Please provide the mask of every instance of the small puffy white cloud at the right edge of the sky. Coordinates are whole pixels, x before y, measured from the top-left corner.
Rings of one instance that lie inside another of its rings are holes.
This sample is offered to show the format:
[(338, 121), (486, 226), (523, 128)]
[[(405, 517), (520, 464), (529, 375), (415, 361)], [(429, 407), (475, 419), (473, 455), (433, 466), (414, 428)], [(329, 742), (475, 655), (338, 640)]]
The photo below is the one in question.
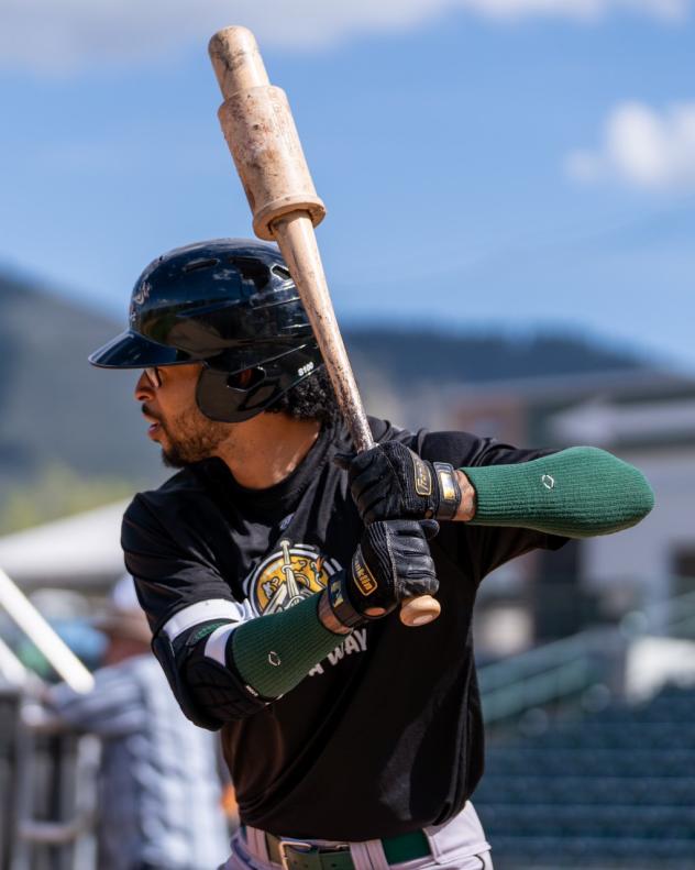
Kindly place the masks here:
[(695, 189), (695, 102), (661, 113), (640, 102), (621, 103), (608, 115), (599, 147), (570, 154), (565, 167), (585, 183)]

